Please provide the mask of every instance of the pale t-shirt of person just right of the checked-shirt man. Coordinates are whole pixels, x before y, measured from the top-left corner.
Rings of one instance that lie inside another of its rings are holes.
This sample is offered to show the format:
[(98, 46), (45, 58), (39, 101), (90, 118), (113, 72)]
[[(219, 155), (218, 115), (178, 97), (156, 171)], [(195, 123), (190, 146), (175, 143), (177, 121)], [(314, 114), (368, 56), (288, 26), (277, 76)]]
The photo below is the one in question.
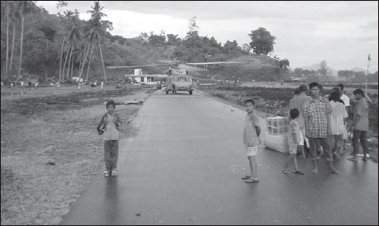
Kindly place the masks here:
[(329, 101), (332, 107), (332, 114), (330, 116), (330, 127), (333, 135), (342, 134), (345, 127), (343, 125), (343, 118), (348, 117), (348, 112), (341, 102)]

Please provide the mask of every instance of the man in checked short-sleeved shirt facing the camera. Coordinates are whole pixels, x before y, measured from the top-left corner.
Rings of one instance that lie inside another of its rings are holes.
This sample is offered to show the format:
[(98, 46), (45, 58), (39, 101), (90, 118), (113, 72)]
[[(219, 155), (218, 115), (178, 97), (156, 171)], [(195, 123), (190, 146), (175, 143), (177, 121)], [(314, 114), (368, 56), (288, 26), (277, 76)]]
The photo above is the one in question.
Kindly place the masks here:
[(330, 114), (332, 108), (329, 101), (320, 96), (322, 85), (313, 82), (309, 84), (311, 100), (303, 106), (305, 119), (305, 136), (309, 139), (310, 153), (312, 155), (313, 173), (317, 173), (317, 144), (324, 150), (329, 170), (332, 174), (341, 174), (333, 166), (333, 154), (330, 149), (328, 134), (331, 132)]

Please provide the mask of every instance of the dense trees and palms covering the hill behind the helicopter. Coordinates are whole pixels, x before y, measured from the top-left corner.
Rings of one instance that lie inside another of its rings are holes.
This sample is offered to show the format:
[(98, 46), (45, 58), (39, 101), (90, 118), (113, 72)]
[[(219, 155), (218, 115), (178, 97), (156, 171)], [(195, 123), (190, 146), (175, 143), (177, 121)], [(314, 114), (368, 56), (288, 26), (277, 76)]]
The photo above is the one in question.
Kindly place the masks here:
[[(111, 70), (105, 69), (106, 66), (141, 65), (159, 59), (202, 62), (259, 57), (251, 53), (249, 44), (240, 46), (235, 40), (221, 44), (214, 36), (199, 36), (195, 17), (189, 21), (189, 31), (184, 38), (163, 30), (161, 34), (142, 32), (140, 36), (127, 38), (111, 35), (112, 23), (104, 20), (107, 15), (98, 1), (87, 11), (91, 14), (89, 20), (80, 20), (77, 10), (64, 11), (67, 4), (70, 2), (58, 1), (57, 7), (62, 7), (63, 13), (50, 14), (34, 1), (1, 2), (1, 79), (5, 84), (31, 78), (40, 82), (67, 82), (71, 77), (113, 80), (133, 73), (133, 69)], [(279, 60), (262, 57), (259, 61), (263, 66), (253, 65), (254, 68), (270, 71), (266, 77), (262, 76), (265, 80), (277, 80)], [(229, 72), (222, 73), (228, 67), (210, 66), (209, 74), (229, 76)], [(247, 69), (234, 70), (233, 74), (246, 76)], [(158, 67), (144, 71), (161, 73)], [(255, 75), (260, 77), (261, 72), (249, 74), (247, 79), (251, 80)]]

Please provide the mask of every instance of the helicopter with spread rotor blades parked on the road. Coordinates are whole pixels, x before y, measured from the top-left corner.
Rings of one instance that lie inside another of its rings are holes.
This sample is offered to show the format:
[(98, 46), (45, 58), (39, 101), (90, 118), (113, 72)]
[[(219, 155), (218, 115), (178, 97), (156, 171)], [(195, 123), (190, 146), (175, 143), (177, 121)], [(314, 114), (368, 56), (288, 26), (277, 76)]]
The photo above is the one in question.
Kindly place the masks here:
[[(169, 66), (166, 70), (167, 75), (167, 87), (166, 94), (169, 92), (177, 93), (177, 91), (186, 91), (190, 95), (194, 92), (194, 84), (191, 76), (188, 75), (188, 71), (208, 71), (207, 66), (209, 64), (230, 64), (241, 63), (240, 61), (218, 61), (218, 62), (199, 62), (199, 63), (180, 63), (180, 61), (158, 60), (164, 62), (162, 64), (146, 64), (136, 66), (108, 66), (107, 69), (128, 69), (128, 68), (142, 68), (142, 67), (160, 67)], [(204, 68), (197, 68), (191, 65), (203, 65)], [(173, 69), (176, 67), (177, 69)], [(149, 77), (149, 76), (146, 76)]]

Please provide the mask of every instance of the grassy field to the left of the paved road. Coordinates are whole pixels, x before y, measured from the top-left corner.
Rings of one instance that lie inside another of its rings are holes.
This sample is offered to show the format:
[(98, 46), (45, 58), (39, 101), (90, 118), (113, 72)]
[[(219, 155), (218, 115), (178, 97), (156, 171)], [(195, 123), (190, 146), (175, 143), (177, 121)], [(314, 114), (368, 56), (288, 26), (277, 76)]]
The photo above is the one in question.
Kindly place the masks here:
[[(103, 167), (95, 127), (104, 101), (145, 100), (153, 87), (128, 85), (78, 90), (75, 86), (1, 90), (1, 224), (58, 224)], [(140, 105), (117, 105), (128, 122)]]

